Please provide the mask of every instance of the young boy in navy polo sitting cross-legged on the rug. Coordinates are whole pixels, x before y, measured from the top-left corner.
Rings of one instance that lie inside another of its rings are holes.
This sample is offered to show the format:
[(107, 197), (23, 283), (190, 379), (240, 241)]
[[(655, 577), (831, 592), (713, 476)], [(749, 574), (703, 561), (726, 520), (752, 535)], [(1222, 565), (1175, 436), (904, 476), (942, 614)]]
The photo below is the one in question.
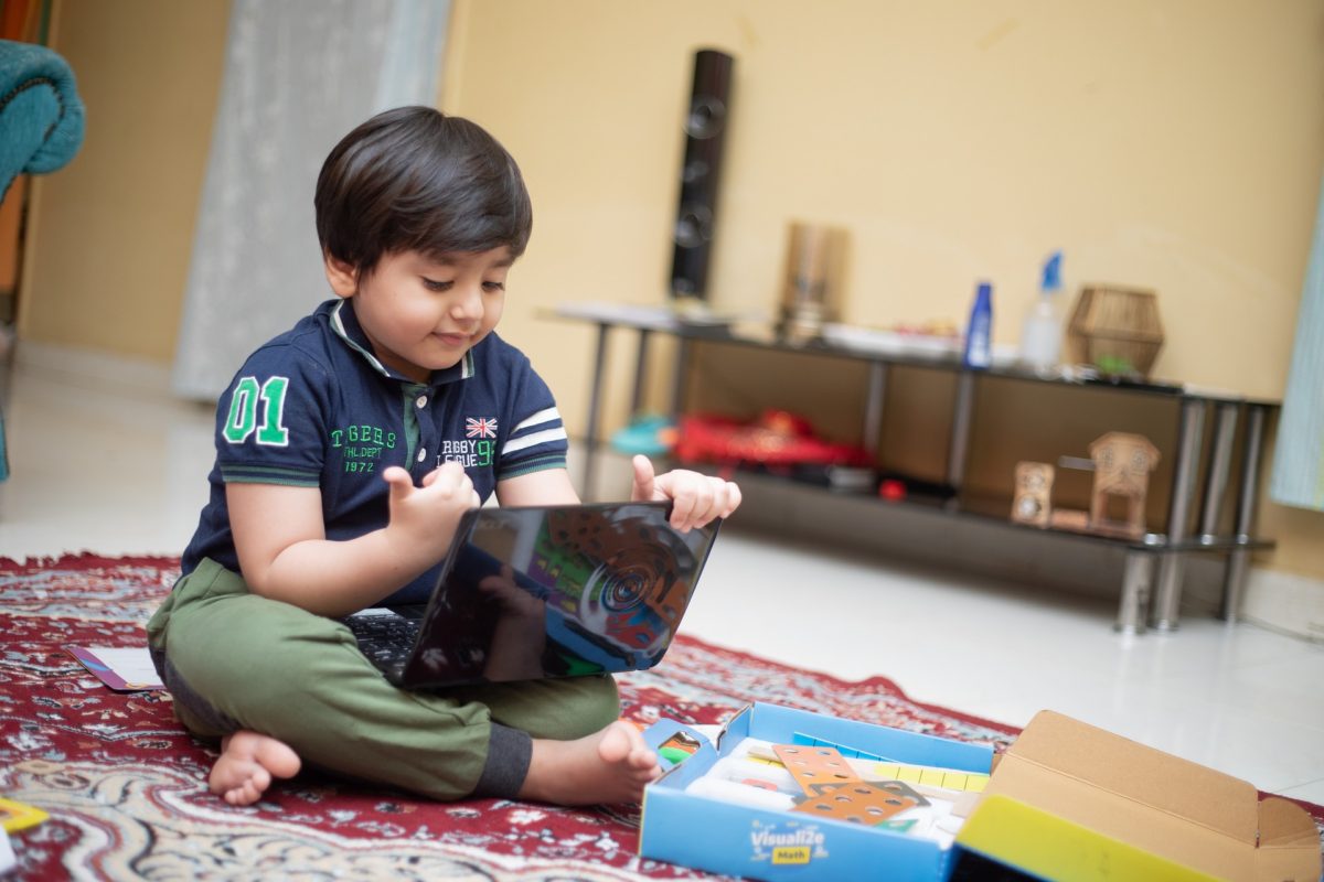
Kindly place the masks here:
[[(303, 763), (441, 800), (638, 800), (658, 775), (608, 676), (406, 692), (335, 616), (426, 598), (462, 512), (579, 502), (556, 403), (493, 331), (532, 226), (510, 155), (426, 107), (350, 132), (318, 177), (336, 295), (260, 348), (221, 397), (211, 501), (148, 623), (195, 734), (221, 739), (233, 805)], [(740, 504), (731, 483), (654, 475), (682, 530)]]

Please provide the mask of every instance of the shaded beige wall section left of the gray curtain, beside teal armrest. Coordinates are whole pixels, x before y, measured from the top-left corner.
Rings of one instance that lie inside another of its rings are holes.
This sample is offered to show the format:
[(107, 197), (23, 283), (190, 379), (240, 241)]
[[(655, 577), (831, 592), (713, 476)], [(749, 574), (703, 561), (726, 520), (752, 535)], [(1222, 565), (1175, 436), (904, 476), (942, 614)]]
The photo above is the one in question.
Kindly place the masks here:
[(168, 362), (220, 97), (229, 3), (57, 0), (52, 46), (87, 108), (38, 188), (19, 333)]

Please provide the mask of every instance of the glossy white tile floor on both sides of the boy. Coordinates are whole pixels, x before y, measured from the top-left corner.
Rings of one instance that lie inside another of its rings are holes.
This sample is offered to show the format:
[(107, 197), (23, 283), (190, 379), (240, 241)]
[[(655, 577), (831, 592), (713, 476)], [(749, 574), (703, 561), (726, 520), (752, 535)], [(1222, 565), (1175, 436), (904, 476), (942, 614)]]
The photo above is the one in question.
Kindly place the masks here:
[[(77, 368), (21, 365), (0, 395), (13, 471), (0, 484), (0, 557), (177, 554), (205, 499), (211, 411)], [(780, 611), (806, 586), (812, 608), (853, 612), (831, 639)], [(1125, 637), (1115, 612), (1107, 600), (813, 551), (741, 532), (736, 518), (683, 629), (842, 678), (883, 674), (918, 701), (1017, 726), (1051, 707), (1324, 803), (1324, 647), (1209, 618)]]

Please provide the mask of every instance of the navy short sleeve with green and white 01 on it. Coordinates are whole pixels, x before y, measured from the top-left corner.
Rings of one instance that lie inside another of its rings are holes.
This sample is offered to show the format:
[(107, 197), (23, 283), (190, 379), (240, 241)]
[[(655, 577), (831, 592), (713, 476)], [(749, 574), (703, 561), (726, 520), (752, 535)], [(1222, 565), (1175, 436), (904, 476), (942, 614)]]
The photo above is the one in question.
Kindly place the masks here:
[(221, 479), (319, 487), (331, 372), (289, 345), (257, 350), (216, 407)]

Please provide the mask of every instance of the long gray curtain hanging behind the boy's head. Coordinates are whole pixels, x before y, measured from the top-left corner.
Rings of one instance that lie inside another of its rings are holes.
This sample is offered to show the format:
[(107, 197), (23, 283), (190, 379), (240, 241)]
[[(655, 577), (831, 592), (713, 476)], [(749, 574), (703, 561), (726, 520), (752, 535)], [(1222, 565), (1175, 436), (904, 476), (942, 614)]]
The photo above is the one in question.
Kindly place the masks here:
[(234, 0), (173, 387), (214, 399), (331, 296), (312, 190), (372, 114), (437, 102), (450, 0)]

